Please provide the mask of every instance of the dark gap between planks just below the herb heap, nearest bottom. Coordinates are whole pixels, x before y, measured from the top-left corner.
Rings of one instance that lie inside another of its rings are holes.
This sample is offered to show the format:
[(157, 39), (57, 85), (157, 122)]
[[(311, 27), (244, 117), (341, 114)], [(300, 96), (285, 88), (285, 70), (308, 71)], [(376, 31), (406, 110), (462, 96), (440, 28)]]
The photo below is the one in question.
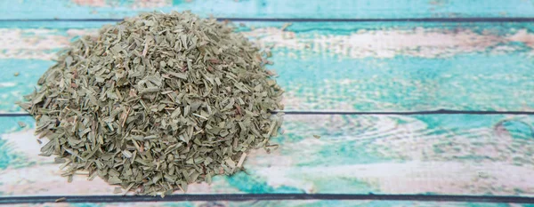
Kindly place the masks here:
[(12, 196), (0, 197), (0, 204), (16, 203), (137, 203), (194, 201), (276, 201), (276, 200), (379, 200), (470, 203), (534, 203), (534, 197), (500, 195), (375, 195), (375, 194), (220, 194), (220, 195), (150, 195), (118, 196)]

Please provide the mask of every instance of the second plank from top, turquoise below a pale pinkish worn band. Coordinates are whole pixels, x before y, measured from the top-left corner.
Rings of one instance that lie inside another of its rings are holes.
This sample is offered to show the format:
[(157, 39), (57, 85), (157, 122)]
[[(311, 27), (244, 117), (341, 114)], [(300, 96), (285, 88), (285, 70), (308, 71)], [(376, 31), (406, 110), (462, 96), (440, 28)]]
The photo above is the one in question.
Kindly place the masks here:
[[(289, 110), (534, 107), (534, 34), (527, 23), (252, 26), (240, 30), (273, 46), (270, 68), (279, 73)], [(58, 27), (0, 28), (0, 111), (19, 110), (13, 102), (34, 90), (53, 52), (99, 26)]]

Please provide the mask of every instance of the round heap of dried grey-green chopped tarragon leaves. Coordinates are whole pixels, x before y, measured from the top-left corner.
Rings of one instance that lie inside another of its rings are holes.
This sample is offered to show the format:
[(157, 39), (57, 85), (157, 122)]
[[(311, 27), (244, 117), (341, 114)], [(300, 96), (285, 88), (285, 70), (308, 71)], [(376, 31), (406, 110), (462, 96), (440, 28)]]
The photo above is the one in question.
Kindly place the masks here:
[(282, 90), (263, 57), (223, 22), (145, 13), (73, 42), (20, 106), (69, 180), (167, 195), (270, 147)]

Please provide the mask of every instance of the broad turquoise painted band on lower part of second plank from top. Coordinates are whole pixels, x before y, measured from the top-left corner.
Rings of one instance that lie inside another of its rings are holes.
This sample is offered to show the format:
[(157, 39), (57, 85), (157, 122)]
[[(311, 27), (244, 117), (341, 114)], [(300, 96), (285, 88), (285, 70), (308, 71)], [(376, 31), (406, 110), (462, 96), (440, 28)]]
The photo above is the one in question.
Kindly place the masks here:
[[(275, 53), (278, 55), (278, 53)], [(398, 57), (305, 60), (275, 57), (286, 109), (297, 111), (416, 111), (433, 109), (531, 110), (534, 61), (526, 54), (457, 55), (451, 60)], [(33, 92), (53, 65), (45, 60), (0, 60), (0, 107)], [(16, 68), (16, 69), (12, 69)], [(20, 76), (14, 77), (15, 72)], [(306, 74), (306, 76), (302, 76)], [(322, 85), (316, 87), (314, 85)]]

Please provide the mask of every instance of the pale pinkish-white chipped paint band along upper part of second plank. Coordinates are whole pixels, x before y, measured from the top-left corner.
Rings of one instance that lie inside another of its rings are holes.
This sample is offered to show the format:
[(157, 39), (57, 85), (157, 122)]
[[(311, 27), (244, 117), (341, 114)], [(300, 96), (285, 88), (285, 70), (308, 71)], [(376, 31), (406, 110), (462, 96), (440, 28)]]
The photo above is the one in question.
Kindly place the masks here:
[[(12, 29), (0, 28), (0, 59), (51, 60), (53, 51), (68, 46), (76, 36), (96, 35), (96, 29)], [(336, 55), (341, 58), (447, 58), (472, 52), (506, 53), (534, 48), (534, 34), (520, 29), (506, 36), (479, 34), (468, 28), (449, 30), (413, 28), (383, 30), (360, 29), (349, 35), (295, 33), (280, 28), (256, 28), (242, 32), (264, 48), (287, 50), (287, 57), (311, 54)]]

